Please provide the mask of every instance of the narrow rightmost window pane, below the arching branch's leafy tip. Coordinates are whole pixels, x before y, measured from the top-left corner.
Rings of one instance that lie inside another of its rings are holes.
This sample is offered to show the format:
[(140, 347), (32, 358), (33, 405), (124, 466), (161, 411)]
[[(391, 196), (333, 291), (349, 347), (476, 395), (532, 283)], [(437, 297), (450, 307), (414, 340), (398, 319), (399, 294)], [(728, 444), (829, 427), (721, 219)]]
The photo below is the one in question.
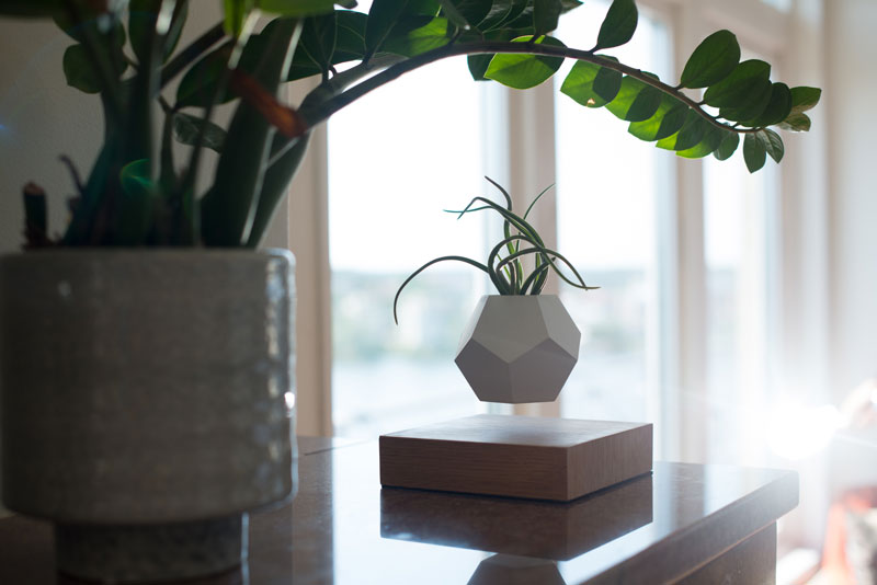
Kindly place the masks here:
[(709, 159), (704, 165), (710, 462), (760, 464), (765, 455), (775, 181), (770, 160), (755, 174), (737, 157), (725, 163)]

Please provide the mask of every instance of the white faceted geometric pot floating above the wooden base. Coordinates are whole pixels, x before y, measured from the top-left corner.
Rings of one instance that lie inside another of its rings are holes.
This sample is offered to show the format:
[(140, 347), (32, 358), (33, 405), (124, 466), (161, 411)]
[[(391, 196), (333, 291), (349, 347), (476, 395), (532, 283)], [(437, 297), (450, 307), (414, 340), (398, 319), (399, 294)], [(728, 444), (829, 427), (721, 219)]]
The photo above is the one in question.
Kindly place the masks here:
[(550, 402), (579, 359), (581, 333), (555, 295), (481, 297), (455, 359), (482, 402)]

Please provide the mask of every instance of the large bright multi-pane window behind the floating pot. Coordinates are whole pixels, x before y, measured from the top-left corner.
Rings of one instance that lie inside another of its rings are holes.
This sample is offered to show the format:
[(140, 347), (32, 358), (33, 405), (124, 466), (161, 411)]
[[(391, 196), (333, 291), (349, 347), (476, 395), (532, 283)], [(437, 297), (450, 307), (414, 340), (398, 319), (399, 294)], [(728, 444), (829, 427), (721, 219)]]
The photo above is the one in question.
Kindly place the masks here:
[[(593, 0), (565, 15), (558, 36), (586, 46), (607, 5)], [(722, 26), (787, 70), (795, 43), (807, 42), (776, 26), (794, 13), (785, 12), (789, 2), (638, 5), (634, 41), (606, 53), (667, 79)], [(796, 238), (805, 230), (787, 230), (799, 220), (798, 203), (781, 187), (800, 181), (789, 183), (771, 162), (750, 176), (739, 153), (721, 164), (681, 160), (626, 136), (624, 124), (545, 85), (522, 93), (474, 83), (462, 59), (406, 74), (332, 118), (323, 196), (337, 434), (373, 436), (485, 409), (453, 364), (463, 323), (488, 291), (482, 275), (451, 263), (430, 268), (403, 292), (400, 328), (391, 305), (423, 262), (448, 253), (482, 257), (496, 227), (442, 209), (490, 193), (481, 179), (490, 174), (513, 190), (523, 185), (517, 195), (525, 199), (556, 182), (538, 227), (589, 284), (603, 287), (560, 287), (583, 333), (581, 360), (560, 403), (537, 411), (652, 421), (664, 444), (659, 457), (763, 460), (764, 433), (752, 429), (775, 389), (786, 390), (777, 340), (787, 341), (790, 320), (806, 318), (794, 311), (809, 307), (785, 302), (794, 295), (786, 266), (802, 263)], [(800, 174), (799, 161), (785, 161), (782, 173)], [(303, 402), (329, 395), (328, 386), (299, 391)]]

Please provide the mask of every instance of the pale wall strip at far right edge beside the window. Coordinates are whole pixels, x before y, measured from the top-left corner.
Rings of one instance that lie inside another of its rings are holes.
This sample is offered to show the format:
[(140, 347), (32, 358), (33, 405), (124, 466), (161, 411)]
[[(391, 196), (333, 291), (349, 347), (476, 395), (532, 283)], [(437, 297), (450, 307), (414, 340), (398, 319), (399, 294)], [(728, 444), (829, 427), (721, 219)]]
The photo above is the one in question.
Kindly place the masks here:
[(840, 401), (877, 374), (877, 2), (824, 0), (831, 389)]

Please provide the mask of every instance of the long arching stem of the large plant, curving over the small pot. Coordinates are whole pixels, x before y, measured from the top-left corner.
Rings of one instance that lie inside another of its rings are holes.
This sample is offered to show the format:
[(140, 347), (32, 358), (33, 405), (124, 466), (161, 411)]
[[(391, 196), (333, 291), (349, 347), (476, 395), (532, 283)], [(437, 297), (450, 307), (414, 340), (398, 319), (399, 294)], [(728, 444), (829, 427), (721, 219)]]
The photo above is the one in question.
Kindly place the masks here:
[[(634, 79), (641, 81), (648, 85), (651, 85), (663, 93), (672, 95), (676, 100), (683, 102), (685, 105), (694, 110), (701, 117), (709, 122), (713, 126), (716, 126), (724, 130), (734, 131), (738, 134), (748, 134), (748, 133), (755, 133), (759, 131), (761, 128), (734, 128), (729, 124), (721, 122), (717, 116), (714, 116), (706, 112), (702, 104), (692, 100), (687, 95), (685, 95), (680, 89), (673, 88), (660, 81), (647, 73), (645, 73), (640, 69), (635, 69), (622, 62), (616, 62), (612, 59), (607, 59), (600, 55), (594, 55), (588, 50), (581, 49), (573, 49), (569, 47), (557, 47), (553, 45), (544, 45), (544, 44), (527, 44), (527, 43), (505, 43), (505, 42), (497, 42), (497, 41), (482, 41), (477, 43), (463, 43), (463, 44), (448, 44), (436, 49), (429, 50), (426, 53), (422, 53), (415, 57), (411, 57), (409, 59), (405, 59), (400, 62), (394, 64), (388, 68), (384, 69), (383, 71), (376, 73), (374, 77), (371, 77), (363, 81), (362, 83), (350, 88), (342, 93), (338, 93), (335, 95), (329, 96), (324, 101), (312, 103), (310, 100), (305, 100), (303, 102), (303, 107), (299, 113), (307, 119), (308, 126), (314, 126), (321, 122), (328, 119), (332, 114), (338, 112), (339, 110), (343, 108), (346, 105), (350, 105), (354, 101), (358, 100), (363, 95), (369, 93), (377, 88), (394, 81), (395, 79), (399, 78), (400, 76), (413, 71), (420, 67), (429, 65), (431, 62), (438, 61), (441, 59), (445, 59), (447, 57), (456, 57), (460, 55), (492, 55), (492, 54), (529, 54), (529, 55), (543, 55), (546, 57), (560, 57), (560, 58), (571, 58), (581, 61), (592, 62), (594, 65), (599, 65), (601, 67), (605, 67), (606, 69), (612, 69), (614, 71), (618, 71), (626, 76), (629, 76)], [(354, 68), (355, 69), (355, 68)], [(340, 76), (339, 76), (340, 77)], [(322, 85), (317, 88), (315, 92), (320, 91)], [(323, 92), (320, 92), (321, 95), (324, 95)], [(310, 97), (310, 95), (308, 96)], [(308, 107), (305, 107), (305, 106)]]

